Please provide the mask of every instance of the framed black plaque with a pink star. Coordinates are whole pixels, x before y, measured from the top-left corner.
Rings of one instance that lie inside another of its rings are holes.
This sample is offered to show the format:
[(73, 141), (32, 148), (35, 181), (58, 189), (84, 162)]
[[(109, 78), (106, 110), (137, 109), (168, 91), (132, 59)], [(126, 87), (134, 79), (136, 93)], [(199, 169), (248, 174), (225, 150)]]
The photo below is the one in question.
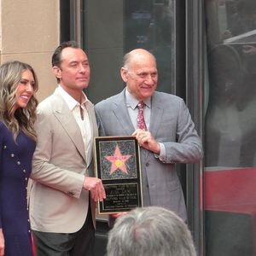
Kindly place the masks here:
[(102, 179), (106, 199), (99, 214), (143, 207), (139, 146), (135, 137), (95, 137), (96, 177)]

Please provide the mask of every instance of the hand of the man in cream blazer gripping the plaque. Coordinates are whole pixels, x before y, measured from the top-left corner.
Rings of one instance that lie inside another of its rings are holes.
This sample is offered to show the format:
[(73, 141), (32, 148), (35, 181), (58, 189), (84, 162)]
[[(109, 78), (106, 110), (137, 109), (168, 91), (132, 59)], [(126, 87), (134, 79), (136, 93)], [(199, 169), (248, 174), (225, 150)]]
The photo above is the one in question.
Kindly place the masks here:
[(85, 177), (84, 189), (90, 191), (90, 195), (94, 201), (103, 201), (106, 199), (102, 180), (97, 177)]

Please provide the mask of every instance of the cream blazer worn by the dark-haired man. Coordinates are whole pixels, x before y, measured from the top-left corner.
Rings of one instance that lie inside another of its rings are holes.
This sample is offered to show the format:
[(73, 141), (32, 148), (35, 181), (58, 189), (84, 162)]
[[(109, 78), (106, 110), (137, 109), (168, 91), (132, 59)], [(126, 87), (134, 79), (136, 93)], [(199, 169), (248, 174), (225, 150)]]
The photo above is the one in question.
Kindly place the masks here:
[[(93, 105), (87, 108), (93, 136), (98, 135)], [(32, 160), (30, 218), (32, 230), (73, 233), (84, 224), (89, 192), (84, 176), (94, 176), (85, 159), (79, 125), (58, 91), (38, 106), (38, 143)], [(95, 203), (91, 201), (95, 220)]]

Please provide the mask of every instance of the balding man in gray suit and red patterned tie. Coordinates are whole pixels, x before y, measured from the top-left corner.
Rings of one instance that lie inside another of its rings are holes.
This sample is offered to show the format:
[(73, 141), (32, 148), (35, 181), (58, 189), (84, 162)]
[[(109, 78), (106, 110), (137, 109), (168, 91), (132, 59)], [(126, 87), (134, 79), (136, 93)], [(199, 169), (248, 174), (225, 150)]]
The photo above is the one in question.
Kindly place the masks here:
[[(120, 74), (125, 90), (96, 104), (99, 134), (136, 136), (141, 146), (144, 206), (165, 207), (186, 221), (183, 191), (174, 165), (195, 163), (203, 155), (189, 109), (181, 98), (155, 90), (156, 61), (147, 50), (134, 49), (126, 54)], [(146, 127), (137, 129), (137, 103), (142, 101)]]

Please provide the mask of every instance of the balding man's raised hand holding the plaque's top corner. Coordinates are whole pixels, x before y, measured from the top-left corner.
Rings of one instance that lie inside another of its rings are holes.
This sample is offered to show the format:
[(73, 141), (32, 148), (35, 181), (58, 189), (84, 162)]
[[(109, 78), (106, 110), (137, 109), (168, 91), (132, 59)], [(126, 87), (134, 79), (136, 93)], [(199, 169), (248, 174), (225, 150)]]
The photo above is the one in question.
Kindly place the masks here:
[(137, 138), (139, 145), (155, 154), (160, 154), (160, 144), (152, 137), (150, 131), (137, 129), (132, 133), (132, 136)]

